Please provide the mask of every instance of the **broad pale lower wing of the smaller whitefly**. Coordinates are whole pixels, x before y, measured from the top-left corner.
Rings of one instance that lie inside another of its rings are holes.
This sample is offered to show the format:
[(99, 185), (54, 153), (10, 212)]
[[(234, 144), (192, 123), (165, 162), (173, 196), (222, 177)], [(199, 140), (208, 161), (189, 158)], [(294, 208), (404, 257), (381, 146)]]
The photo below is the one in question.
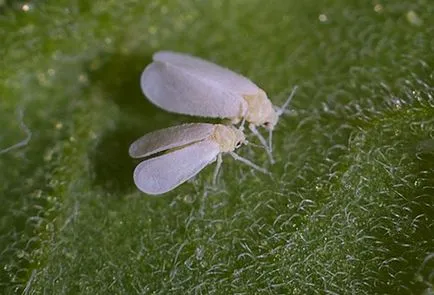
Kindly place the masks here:
[(205, 140), (145, 160), (134, 170), (134, 183), (150, 195), (166, 193), (199, 173), (219, 153), (216, 142)]

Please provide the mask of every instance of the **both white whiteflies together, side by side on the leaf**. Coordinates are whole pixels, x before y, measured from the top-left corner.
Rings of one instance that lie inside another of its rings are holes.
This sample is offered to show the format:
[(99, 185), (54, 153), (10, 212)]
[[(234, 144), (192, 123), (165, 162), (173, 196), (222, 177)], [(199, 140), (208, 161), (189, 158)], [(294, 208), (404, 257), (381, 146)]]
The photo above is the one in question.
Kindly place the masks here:
[[(285, 104), (277, 108), (249, 79), (197, 57), (169, 51), (154, 54), (153, 62), (141, 76), (141, 87), (147, 98), (164, 110), (227, 118), (232, 124), (240, 124), (238, 128), (223, 124), (184, 124), (148, 133), (133, 142), (130, 156), (147, 158), (134, 170), (134, 183), (150, 195), (176, 188), (217, 160), (215, 182), (222, 153), (229, 153), (234, 159), (268, 173), (234, 150), (247, 143), (243, 133), (247, 121), (273, 163), (272, 131), (297, 88), (294, 87)], [(256, 126), (269, 130), (268, 143)]]

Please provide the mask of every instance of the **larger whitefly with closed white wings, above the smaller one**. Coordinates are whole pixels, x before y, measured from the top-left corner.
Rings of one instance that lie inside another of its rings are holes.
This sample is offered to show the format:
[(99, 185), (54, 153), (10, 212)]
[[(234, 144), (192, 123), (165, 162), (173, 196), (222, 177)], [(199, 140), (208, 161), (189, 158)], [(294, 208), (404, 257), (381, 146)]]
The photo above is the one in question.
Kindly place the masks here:
[[(249, 123), (249, 129), (272, 157), (272, 131), (297, 87), (281, 108), (271, 104), (265, 92), (249, 79), (191, 55), (160, 51), (141, 76), (148, 99), (160, 108), (181, 114), (229, 118), (233, 124)], [(268, 144), (256, 126), (269, 130)]]

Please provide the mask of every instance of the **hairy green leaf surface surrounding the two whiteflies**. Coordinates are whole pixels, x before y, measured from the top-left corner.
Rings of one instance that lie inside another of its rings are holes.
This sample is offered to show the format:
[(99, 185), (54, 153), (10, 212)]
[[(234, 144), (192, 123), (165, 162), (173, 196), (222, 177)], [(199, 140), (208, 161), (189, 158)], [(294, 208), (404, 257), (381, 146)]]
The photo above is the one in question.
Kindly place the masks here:
[[(433, 294), (434, 1), (0, 1), (0, 293)], [(27, 11), (26, 11), (27, 10)], [(153, 52), (282, 104), (277, 163), (162, 196), (128, 146), (203, 121), (141, 94)], [(28, 143), (10, 148), (31, 132)]]

